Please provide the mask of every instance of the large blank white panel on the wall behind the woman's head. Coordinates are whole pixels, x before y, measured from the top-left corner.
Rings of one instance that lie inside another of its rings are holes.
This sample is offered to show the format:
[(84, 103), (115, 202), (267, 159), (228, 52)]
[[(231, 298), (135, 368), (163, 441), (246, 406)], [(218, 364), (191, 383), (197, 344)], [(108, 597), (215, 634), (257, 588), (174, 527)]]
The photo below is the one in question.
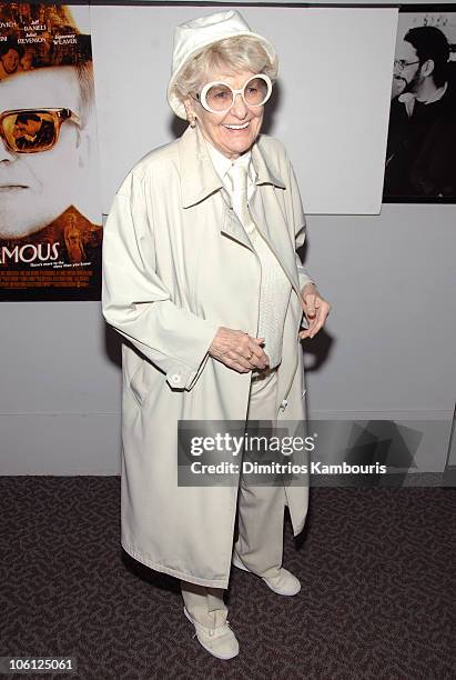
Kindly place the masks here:
[[(97, 108), (103, 121), (103, 212), (135, 160), (180, 131), (165, 99), (174, 27), (213, 11), (91, 8)], [(242, 14), (280, 54), (282, 77), (266, 106), (264, 128), (290, 150), (307, 213), (378, 213), (397, 10), (249, 7)]]

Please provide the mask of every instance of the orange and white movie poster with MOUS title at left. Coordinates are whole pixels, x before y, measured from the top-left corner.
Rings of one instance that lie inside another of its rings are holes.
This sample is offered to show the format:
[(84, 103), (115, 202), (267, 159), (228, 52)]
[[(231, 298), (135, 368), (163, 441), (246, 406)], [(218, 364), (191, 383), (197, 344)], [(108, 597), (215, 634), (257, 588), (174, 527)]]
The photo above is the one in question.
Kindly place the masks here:
[(0, 299), (99, 300), (88, 6), (0, 2)]

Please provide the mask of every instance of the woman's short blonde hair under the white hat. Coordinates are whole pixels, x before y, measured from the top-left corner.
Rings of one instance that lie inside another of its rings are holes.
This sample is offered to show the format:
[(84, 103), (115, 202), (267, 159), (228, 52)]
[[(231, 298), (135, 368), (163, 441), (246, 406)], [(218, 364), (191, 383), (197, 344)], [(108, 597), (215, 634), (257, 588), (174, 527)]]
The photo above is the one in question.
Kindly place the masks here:
[(260, 40), (235, 36), (211, 44), (189, 61), (174, 84), (176, 96), (183, 100), (190, 92), (197, 92), (214, 71), (252, 71), (264, 73), (272, 81), (277, 77), (277, 67)]

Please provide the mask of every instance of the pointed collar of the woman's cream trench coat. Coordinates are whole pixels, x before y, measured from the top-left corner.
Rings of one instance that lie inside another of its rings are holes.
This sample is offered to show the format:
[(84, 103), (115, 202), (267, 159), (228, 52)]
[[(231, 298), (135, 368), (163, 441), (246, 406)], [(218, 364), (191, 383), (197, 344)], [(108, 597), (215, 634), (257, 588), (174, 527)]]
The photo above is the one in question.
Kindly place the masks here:
[[(223, 182), (215, 172), (197, 126), (189, 127), (179, 139), (179, 156), (183, 208), (195, 206), (222, 189)], [(256, 173), (255, 184), (274, 184), (286, 189), (277, 169), (270, 159), (264, 158), (256, 142), (252, 147), (252, 163)]]

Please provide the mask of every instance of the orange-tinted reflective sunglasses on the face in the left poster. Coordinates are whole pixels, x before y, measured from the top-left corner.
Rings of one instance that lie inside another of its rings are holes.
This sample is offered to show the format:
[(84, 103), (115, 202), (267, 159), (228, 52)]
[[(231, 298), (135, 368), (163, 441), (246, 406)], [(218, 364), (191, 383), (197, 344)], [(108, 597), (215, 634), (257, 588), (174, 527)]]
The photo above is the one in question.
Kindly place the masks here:
[(0, 137), (13, 153), (41, 153), (59, 141), (65, 120), (81, 127), (78, 113), (70, 109), (13, 109), (0, 113)]

